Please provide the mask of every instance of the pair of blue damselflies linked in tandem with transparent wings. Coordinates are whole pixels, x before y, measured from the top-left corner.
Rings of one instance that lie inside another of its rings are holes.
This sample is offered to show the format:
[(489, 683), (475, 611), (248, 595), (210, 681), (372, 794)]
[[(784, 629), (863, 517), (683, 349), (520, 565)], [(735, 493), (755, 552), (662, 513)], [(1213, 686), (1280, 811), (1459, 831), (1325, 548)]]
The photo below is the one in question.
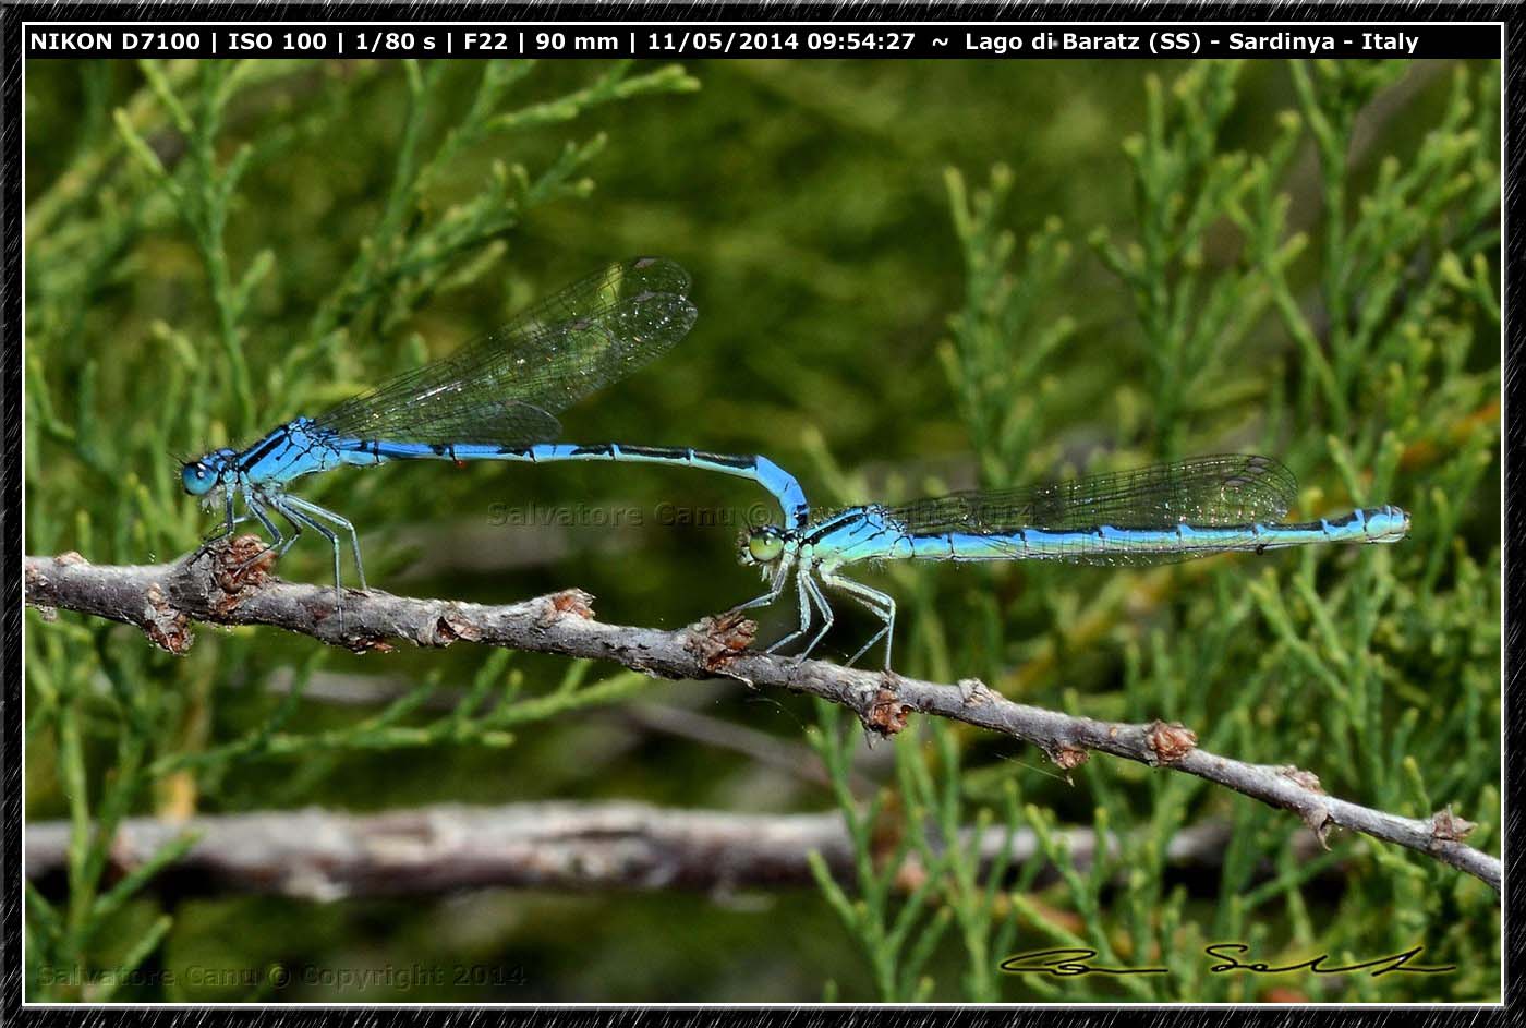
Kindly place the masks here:
[[(800, 483), (763, 456), (555, 442), (562, 433), (557, 413), (688, 334), (697, 317), (688, 288), (684, 268), (662, 258), (612, 264), (450, 357), (324, 413), (295, 418), (241, 450), (215, 450), (186, 462), (182, 482), (209, 508), (221, 506), (218, 535), (258, 520), (270, 534), (264, 552), (276, 555), (304, 529), (324, 535), (334, 552), (334, 606), (342, 618), (336, 529), (348, 534), (356, 573), (366, 589), (360, 540), (351, 522), (287, 491), (304, 474), (420, 459), (617, 461), (751, 479), (778, 502), (783, 523), (743, 535), (742, 560), (763, 569), (769, 590), (737, 610), (778, 599), (794, 572), (800, 627), (769, 650), (809, 634), (804, 656), (821, 642), (833, 624), (823, 592), (827, 587), (853, 596), (882, 622), (850, 663), (885, 639), (887, 668), (896, 601), (844, 577), (841, 569), (848, 564), (900, 558), (1151, 563), (1308, 543), (1393, 543), (1408, 532), (1408, 514), (1396, 506), (1283, 523), (1297, 499), (1297, 482), (1282, 464), (1264, 456), (1193, 458), (1021, 490), (850, 506), (812, 520)], [(235, 500), (243, 500), (247, 514), (237, 514)], [(290, 534), (281, 531), (272, 512), (287, 522)], [(810, 634), (816, 613), (821, 625)]]

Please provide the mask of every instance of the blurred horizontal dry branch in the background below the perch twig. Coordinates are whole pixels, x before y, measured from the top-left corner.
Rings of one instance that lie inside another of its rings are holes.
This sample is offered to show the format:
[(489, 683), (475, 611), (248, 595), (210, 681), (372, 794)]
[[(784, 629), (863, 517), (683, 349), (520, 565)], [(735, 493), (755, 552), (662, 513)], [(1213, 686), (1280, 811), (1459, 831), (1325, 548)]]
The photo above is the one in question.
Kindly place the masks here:
[[(64, 869), (69, 833), (63, 821), (27, 825), (29, 879)], [(160, 886), (189, 882), (320, 901), (481, 888), (726, 895), (810, 885), (812, 851), (839, 880), (856, 874), (853, 843), (836, 811), (732, 814), (633, 802), (439, 805), (382, 814), (273, 810), (180, 824), (140, 818), (118, 830), (111, 862), (128, 872), (186, 834), (197, 843), (160, 872)], [(1091, 865), (1097, 840), (1090, 828), (1056, 834), (1077, 866)], [(1173, 866), (1215, 866), (1227, 840), (1224, 824), (1195, 825), (1172, 837), (1166, 857)], [(989, 865), (1006, 843), (1004, 827), (987, 828), (978, 845), (981, 863)], [(1013, 834), (1013, 865), (1036, 850), (1030, 828)], [(909, 888), (923, 874), (917, 856), (908, 854), (902, 883)]]

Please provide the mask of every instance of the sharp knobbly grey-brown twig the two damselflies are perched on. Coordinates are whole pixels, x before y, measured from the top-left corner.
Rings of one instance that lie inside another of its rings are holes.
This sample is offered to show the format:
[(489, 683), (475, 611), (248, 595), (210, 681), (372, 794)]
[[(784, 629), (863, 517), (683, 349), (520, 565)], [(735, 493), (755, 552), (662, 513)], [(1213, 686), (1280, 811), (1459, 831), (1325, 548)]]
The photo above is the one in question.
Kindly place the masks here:
[(1326, 795), (1311, 772), (1204, 752), (1196, 747), (1196, 735), (1181, 724), (1074, 717), (1013, 703), (975, 679), (940, 685), (824, 660), (766, 656), (748, 650), (752, 624), (736, 616), (705, 619), (681, 631), (601, 624), (594, 619), (592, 598), (575, 589), (502, 607), (346, 590), (340, 627), (331, 589), (278, 581), (262, 561), (238, 570), (261, 546), (261, 540), (246, 535), (153, 566), (93, 566), (78, 554), (27, 557), (26, 602), (44, 615), (63, 607), (137, 625), (150, 641), (174, 653), (189, 648), (192, 619), (262, 624), (356, 651), (389, 650), (395, 639), (420, 647), (467, 641), (612, 660), (665, 679), (723, 676), (841, 703), (882, 735), (899, 732), (913, 712), (935, 714), (1033, 743), (1067, 770), (1099, 750), (1196, 775), (1296, 811), (1320, 842), (1332, 827), (1349, 828), (1442, 860), (1500, 891), (1500, 860), (1460, 842), (1473, 825), (1450, 808), (1415, 819), (1361, 807)]

